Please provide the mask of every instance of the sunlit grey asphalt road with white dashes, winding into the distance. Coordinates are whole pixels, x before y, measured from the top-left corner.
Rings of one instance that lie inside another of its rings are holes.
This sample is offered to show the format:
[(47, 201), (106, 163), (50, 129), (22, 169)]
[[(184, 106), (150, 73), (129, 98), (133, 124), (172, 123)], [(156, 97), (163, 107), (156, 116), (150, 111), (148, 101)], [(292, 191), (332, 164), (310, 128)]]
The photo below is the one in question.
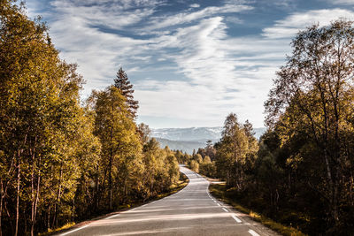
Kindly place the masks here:
[(200, 175), (181, 171), (189, 185), (180, 192), (59, 235), (278, 235), (215, 200)]

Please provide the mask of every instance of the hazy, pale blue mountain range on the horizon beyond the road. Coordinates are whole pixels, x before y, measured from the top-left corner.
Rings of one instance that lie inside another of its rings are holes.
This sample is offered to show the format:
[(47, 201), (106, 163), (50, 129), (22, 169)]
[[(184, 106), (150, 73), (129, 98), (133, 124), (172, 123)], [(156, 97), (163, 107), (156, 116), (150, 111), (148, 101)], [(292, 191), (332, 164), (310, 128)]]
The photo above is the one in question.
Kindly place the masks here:
[[(193, 149), (204, 148), (206, 141), (219, 141), (222, 129), (222, 127), (152, 129), (151, 137), (157, 139), (161, 148), (168, 146), (170, 149), (179, 149), (192, 154)], [(266, 132), (266, 128), (255, 128), (254, 131), (255, 137), (259, 139)]]

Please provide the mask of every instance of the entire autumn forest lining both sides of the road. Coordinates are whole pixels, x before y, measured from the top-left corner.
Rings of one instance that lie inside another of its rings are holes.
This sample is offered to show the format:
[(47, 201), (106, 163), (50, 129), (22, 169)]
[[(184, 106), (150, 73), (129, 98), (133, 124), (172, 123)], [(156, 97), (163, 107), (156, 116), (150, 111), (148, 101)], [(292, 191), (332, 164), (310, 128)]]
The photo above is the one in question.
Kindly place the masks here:
[[(226, 182), (251, 209), (310, 235), (354, 229), (354, 28), (296, 34), (265, 103), (258, 141), (230, 113), (193, 155), (159, 148), (137, 124), (127, 73), (81, 99), (77, 65), (41, 18), (0, 2), (0, 235), (36, 235), (168, 192), (179, 163)], [(235, 85), (236, 86), (236, 85)]]

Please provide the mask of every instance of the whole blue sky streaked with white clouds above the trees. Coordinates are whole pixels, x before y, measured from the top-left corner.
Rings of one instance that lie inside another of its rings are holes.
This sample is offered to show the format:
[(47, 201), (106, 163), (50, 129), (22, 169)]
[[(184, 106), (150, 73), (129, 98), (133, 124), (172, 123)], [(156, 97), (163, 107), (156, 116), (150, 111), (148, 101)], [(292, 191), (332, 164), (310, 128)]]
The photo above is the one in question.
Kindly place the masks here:
[(83, 99), (122, 67), (139, 123), (223, 126), (234, 112), (262, 127), (292, 39), (354, 19), (354, 0), (27, 0), (27, 11), (47, 22), (60, 57), (79, 65)]

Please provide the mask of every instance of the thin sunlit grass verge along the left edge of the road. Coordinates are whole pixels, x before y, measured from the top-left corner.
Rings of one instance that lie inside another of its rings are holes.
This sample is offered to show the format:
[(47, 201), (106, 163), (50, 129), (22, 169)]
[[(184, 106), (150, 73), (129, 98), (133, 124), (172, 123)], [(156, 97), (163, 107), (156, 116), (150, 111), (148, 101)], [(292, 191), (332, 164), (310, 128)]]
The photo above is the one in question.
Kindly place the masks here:
[[(178, 180), (178, 182), (174, 185), (172, 185), (170, 187), (170, 191), (166, 192), (166, 193), (162, 193), (162, 194), (158, 194), (157, 196), (153, 197), (150, 199), (149, 202), (153, 202), (153, 201), (156, 201), (158, 199), (161, 199), (161, 198), (164, 198), (166, 196), (169, 196), (171, 194), (175, 194), (177, 193), (178, 191), (180, 191), (183, 187), (186, 187), (188, 184), (189, 184), (189, 179), (187, 178), (187, 176), (183, 173), (181, 173), (181, 179)], [(146, 204), (148, 202), (135, 202), (135, 203), (132, 203), (132, 204), (127, 204), (127, 205), (124, 205), (124, 206), (120, 206), (119, 209), (121, 210), (127, 210), (127, 209), (131, 209), (131, 208), (135, 208), (135, 207), (138, 207), (138, 206), (141, 206), (142, 204)], [(117, 213), (117, 212), (114, 212), (114, 214)], [(103, 216), (100, 216), (100, 217), (95, 217), (94, 219), (92, 220), (95, 220), (95, 219), (100, 219), (100, 218), (103, 218), (103, 217), (106, 217), (107, 214), (103, 215)], [(58, 233), (58, 232), (62, 232), (66, 229), (69, 229), (71, 227), (73, 227), (74, 225), (78, 225), (80, 224), (81, 222), (79, 223), (75, 223), (75, 222), (70, 222), (70, 223), (67, 223), (61, 227), (58, 227), (56, 229), (50, 229), (48, 232), (42, 232), (42, 233), (39, 233), (38, 236), (49, 236), (49, 235), (52, 235), (54, 233)]]

